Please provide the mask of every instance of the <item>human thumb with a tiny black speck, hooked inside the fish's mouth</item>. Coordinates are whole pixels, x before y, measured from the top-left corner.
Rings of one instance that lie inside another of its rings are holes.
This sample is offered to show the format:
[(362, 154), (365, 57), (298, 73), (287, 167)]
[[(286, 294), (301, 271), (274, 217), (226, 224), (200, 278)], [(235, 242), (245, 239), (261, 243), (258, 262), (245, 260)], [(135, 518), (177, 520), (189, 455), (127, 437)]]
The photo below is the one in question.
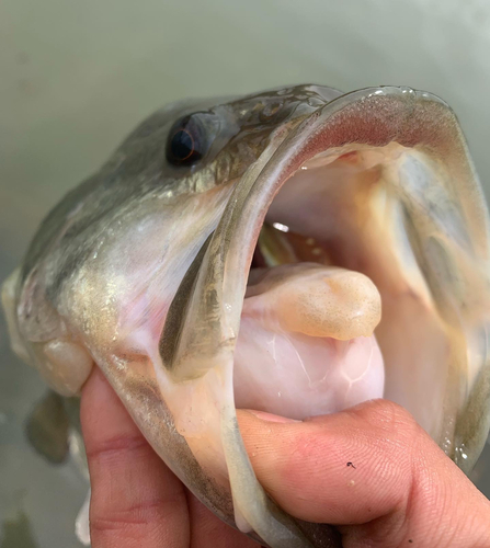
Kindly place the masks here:
[(259, 480), (287, 512), (369, 524), (345, 529), (345, 546), (377, 534), (379, 544), (369, 546), (453, 546), (451, 536), (470, 546), (469, 534), (490, 546), (490, 503), (395, 403), (367, 402), (303, 423), (238, 416)]

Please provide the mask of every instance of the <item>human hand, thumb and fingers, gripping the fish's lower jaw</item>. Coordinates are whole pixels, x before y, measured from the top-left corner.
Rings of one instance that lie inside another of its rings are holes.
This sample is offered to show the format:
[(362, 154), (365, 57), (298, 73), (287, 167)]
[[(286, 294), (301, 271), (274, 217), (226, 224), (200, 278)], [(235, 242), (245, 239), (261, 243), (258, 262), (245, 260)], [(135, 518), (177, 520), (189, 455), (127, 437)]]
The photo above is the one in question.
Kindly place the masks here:
[[(345, 548), (490, 547), (490, 501), (387, 400), (303, 422), (238, 411), (255, 473), (292, 515)], [(82, 391), (93, 548), (253, 548), (148, 445), (98, 368)]]

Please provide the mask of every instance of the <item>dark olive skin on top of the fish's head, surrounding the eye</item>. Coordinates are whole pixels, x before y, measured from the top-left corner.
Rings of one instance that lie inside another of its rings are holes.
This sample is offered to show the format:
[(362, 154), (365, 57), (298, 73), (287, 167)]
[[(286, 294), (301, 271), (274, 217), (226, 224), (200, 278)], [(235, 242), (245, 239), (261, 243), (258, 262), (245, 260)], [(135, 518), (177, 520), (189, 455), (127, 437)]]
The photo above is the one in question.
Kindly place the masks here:
[[(216, 100), (182, 102), (152, 114), (95, 175), (69, 192), (49, 213), (25, 254), (22, 278), (56, 242), (59, 262), (47, 286), (49, 298), (56, 300), (64, 279), (87, 259), (100, 231), (126, 208), (152, 197), (170, 201), (179, 195), (204, 193), (239, 178), (263, 151), (277, 125), (310, 114), (338, 94), (327, 89), (323, 96), (321, 91), (301, 85), (215, 107)], [(210, 112), (219, 126), (206, 164), (191, 170), (170, 165), (164, 144), (172, 123), (200, 111)], [(81, 212), (76, 214), (79, 208)], [(71, 221), (72, 216), (76, 219)]]

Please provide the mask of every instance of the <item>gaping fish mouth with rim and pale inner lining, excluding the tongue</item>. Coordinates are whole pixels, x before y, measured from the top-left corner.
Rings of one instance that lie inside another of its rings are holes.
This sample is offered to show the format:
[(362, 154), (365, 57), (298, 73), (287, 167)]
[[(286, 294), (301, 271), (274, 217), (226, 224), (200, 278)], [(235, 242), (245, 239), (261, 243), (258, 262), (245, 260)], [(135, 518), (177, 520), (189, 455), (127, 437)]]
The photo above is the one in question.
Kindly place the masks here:
[[(379, 292), (383, 319), (375, 321), (369, 294), (371, 323), (361, 335), (376, 328), (384, 396), (408, 408), (458, 466), (472, 467), (489, 427), (488, 413), (474, 412), (488, 409), (490, 393), (482, 203), (457, 121), (428, 93), (357, 91), (272, 135), (175, 295), (157, 372), (175, 425), (204, 468), (215, 465), (201, 459), (193, 436), (219, 438), (212, 460), (219, 454), (226, 461), (241, 529), (271, 546), (289, 546), (281, 543), (298, 534), (270, 512), (248, 461), (235, 414), (233, 354), (253, 267), (300, 263), (312, 240), (308, 262), (362, 273)], [(352, 323), (344, 322), (347, 331)], [(195, 387), (208, 395), (206, 412), (190, 412)], [(271, 538), (272, 529), (282, 533)]]

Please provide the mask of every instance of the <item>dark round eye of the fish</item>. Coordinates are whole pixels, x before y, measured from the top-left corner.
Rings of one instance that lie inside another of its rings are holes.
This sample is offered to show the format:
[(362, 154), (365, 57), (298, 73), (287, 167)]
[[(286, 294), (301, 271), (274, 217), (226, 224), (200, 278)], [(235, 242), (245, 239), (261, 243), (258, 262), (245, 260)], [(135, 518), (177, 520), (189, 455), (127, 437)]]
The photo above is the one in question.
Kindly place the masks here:
[(206, 128), (197, 114), (173, 124), (167, 141), (167, 160), (173, 165), (193, 165), (209, 149)]

